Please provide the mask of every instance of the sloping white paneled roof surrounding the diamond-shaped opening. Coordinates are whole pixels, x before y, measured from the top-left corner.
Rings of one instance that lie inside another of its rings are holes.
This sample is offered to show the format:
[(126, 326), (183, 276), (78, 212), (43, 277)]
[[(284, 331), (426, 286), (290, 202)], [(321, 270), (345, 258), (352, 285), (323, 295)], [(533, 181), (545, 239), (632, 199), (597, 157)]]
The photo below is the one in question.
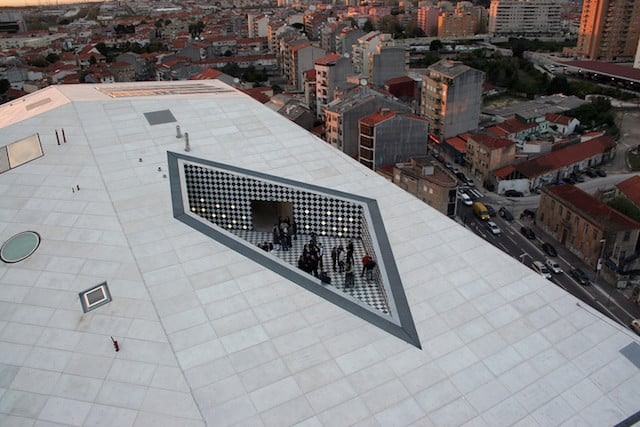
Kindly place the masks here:
[[(176, 122), (151, 125), (161, 110)], [(193, 157), (377, 200), (422, 349), (174, 219), (176, 124)], [(0, 263), (0, 425), (607, 426), (640, 410), (637, 337), (221, 82), (0, 106), (2, 145), (35, 133), (44, 155), (0, 174), (0, 240), (42, 238)], [(104, 281), (112, 301), (84, 313), (78, 293)]]

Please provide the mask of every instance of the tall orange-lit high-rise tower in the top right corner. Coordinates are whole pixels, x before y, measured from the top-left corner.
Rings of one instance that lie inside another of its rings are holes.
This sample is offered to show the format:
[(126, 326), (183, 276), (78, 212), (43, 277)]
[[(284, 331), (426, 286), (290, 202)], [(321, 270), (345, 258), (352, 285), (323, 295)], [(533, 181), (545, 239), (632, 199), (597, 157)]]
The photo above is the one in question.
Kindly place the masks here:
[(601, 61), (633, 60), (640, 37), (640, 0), (584, 0), (576, 54)]

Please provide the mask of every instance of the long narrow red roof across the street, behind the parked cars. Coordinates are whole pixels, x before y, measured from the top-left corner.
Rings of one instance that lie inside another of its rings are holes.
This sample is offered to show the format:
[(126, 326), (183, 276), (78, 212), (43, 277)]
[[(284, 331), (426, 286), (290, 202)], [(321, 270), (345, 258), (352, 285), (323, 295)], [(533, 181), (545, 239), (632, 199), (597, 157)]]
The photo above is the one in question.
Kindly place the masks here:
[(596, 154), (602, 154), (608, 149), (615, 147), (615, 145), (616, 143), (613, 138), (601, 136), (591, 141), (581, 142), (543, 154), (535, 159), (516, 165), (516, 169), (525, 177), (533, 178), (593, 157)]

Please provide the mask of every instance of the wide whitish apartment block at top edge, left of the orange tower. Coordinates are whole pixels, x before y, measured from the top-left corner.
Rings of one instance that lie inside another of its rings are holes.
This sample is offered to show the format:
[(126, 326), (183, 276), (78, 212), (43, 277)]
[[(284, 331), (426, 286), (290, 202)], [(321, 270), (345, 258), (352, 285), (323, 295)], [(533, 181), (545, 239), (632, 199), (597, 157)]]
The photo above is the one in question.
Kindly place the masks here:
[(489, 34), (515, 36), (558, 35), (560, 3), (553, 0), (492, 0)]

